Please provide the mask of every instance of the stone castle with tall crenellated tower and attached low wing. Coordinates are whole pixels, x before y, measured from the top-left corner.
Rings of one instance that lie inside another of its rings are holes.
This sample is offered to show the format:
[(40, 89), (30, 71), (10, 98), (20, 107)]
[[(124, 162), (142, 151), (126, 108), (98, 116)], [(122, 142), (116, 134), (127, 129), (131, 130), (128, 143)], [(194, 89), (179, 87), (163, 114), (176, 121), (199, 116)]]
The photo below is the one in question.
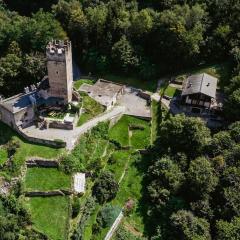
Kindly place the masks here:
[(51, 41), (46, 47), (48, 76), (23, 93), (0, 100), (0, 120), (12, 128), (28, 127), (36, 119), (36, 108), (63, 106), (72, 101), (73, 72), (70, 41)]

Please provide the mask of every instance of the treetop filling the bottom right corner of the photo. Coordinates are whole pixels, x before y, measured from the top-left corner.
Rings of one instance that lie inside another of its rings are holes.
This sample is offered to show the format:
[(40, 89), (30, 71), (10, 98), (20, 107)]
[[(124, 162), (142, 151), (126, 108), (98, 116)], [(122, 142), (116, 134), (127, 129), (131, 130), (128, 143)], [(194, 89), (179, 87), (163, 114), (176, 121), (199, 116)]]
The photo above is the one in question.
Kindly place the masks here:
[(216, 223), (218, 240), (240, 239), (240, 217), (234, 217), (231, 222), (219, 220)]

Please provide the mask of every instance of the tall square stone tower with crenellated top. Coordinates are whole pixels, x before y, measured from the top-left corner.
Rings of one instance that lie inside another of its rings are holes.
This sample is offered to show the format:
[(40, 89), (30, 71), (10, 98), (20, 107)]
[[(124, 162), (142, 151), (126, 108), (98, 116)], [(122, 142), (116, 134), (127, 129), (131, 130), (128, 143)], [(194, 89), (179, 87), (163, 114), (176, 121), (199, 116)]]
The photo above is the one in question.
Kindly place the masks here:
[(49, 96), (72, 100), (73, 71), (70, 41), (51, 41), (46, 48)]

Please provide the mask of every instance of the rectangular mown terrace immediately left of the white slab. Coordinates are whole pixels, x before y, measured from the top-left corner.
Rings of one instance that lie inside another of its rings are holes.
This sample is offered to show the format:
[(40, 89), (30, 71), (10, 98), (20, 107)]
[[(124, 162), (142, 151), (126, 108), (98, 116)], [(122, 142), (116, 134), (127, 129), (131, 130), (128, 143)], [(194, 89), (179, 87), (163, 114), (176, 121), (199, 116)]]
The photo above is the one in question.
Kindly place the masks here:
[(71, 176), (56, 168), (28, 168), (24, 185), (27, 191), (70, 189)]

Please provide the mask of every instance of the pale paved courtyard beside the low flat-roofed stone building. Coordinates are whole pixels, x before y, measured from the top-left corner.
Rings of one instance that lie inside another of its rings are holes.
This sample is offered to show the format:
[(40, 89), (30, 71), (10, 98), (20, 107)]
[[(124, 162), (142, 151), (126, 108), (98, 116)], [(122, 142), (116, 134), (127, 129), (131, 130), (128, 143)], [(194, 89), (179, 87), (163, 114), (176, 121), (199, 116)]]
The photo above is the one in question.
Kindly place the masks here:
[(150, 106), (147, 101), (137, 96), (138, 90), (126, 87), (125, 94), (118, 100), (118, 104), (125, 107), (125, 113), (139, 117), (151, 117)]

